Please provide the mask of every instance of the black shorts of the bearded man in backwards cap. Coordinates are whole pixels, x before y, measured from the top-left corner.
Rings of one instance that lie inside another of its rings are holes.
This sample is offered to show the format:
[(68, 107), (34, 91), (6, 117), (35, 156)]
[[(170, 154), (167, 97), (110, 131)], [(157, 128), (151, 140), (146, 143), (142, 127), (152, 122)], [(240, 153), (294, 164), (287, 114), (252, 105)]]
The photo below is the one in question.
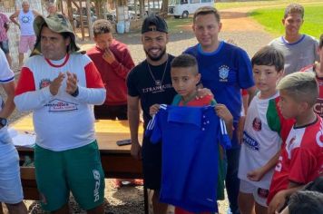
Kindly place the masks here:
[(143, 138), (142, 170), (145, 187), (150, 190), (161, 190), (162, 142), (153, 144), (149, 138)]

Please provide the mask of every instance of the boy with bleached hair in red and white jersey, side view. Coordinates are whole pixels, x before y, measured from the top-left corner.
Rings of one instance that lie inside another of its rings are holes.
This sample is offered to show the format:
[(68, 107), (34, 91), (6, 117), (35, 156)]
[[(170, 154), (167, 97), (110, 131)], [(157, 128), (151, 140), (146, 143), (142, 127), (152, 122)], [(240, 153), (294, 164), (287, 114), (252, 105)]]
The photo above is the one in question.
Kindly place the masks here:
[(294, 126), (282, 146), (269, 188), (269, 214), (323, 170), (323, 120), (313, 110), (318, 99), (314, 73), (291, 73), (279, 81), (279, 108)]

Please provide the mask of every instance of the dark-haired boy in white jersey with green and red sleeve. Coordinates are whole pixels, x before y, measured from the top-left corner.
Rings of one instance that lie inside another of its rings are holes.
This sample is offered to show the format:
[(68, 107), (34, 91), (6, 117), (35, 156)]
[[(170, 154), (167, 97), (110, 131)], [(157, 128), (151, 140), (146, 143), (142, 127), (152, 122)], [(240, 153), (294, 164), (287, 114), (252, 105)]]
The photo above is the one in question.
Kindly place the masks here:
[(267, 213), (266, 199), (273, 168), (279, 158), (281, 138), (292, 121), (279, 117), (276, 83), (284, 73), (284, 56), (271, 46), (262, 47), (251, 59), (259, 92), (250, 102), (240, 151), (239, 208), (241, 214)]

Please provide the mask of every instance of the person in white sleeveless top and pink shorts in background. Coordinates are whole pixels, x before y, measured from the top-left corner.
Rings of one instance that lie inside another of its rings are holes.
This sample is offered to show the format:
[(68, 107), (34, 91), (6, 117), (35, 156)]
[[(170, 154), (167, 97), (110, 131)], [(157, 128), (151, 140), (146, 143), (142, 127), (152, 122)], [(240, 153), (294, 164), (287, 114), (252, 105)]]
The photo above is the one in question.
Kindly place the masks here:
[[(34, 35), (34, 18), (40, 15), (35, 10), (30, 10), (29, 2), (24, 0), (22, 3), (22, 10), (16, 10), (13, 15), (10, 15), (10, 20), (17, 24), (20, 29), (20, 42), (19, 42), (19, 69), (24, 63), (24, 53), (28, 52), (28, 48), (32, 51), (34, 49), (34, 43), (36, 42), (36, 36)], [(18, 21), (15, 20), (18, 18)]]

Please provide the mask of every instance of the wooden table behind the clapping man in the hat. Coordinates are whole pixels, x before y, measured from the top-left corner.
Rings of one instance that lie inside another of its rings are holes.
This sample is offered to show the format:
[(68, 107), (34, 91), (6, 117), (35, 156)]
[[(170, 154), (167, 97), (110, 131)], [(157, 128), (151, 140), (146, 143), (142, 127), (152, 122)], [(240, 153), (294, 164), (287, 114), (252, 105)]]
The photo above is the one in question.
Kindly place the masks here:
[[(17, 131), (34, 131), (31, 115), (12, 125)], [(95, 132), (105, 178), (142, 179), (142, 162), (135, 160), (130, 154), (130, 145), (118, 146), (116, 141), (130, 139), (127, 121), (99, 120), (95, 122)], [(142, 136), (142, 129), (140, 130)], [(34, 150), (17, 148), (20, 157), (34, 156)], [(24, 199), (39, 199), (35, 182), (34, 167), (21, 167), (21, 179), (24, 190)], [(146, 191), (145, 207), (147, 206)], [(146, 208), (145, 208), (146, 209)]]

